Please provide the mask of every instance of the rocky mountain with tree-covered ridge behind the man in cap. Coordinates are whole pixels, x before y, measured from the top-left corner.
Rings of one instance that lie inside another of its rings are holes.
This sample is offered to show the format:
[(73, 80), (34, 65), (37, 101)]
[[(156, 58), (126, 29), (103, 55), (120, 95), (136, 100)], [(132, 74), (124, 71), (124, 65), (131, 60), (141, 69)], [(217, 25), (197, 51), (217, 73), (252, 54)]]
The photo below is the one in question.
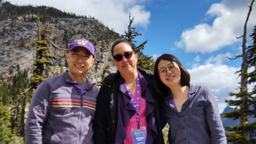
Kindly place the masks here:
[[(61, 49), (67, 49), (74, 39), (79, 38), (86, 38), (93, 43), (95, 61), (87, 73), (92, 82), (102, 80), (104, 69), (105, 76), (116, 72), (111, 45), (122, 37), (99, 20), (62, 12), (53, 7), (17, 6), (0, 2), (0, 82), (11, 81), (18, 67), (20, 71), (28, 69), (29, 73), (33, 70), (36, 58), (33, 42), (38, 38), (37, 17), (40, 17), (41, 29), (44, 29), (46, 23), (49, 23), (49, 29), (53, 28), (52, 42)], [(49, 47), (49, 53), (58, 58), (51, 61), (55, 64), (52, 67), (54, 74), (49, 75), (63, 73), (67, 69), (67, 51)]]

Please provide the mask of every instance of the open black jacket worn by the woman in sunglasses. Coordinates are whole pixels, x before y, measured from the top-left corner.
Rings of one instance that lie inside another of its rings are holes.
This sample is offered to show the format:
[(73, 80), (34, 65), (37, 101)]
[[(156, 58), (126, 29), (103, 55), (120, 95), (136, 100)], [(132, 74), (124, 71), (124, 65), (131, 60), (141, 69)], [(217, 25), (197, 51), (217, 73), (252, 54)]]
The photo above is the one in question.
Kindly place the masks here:
[[(164, 139), (161, 129), (158, 97), (154, 91), (152, 82), (153, 71), (145, 70), (142, 68), (138, 68), (138, 70), (146, 78), (148, 82), (148, 89), (156, 102), (156, 107), (153, 111), (155, 115), (158, 136), (153, 143), (162, 144), (164, 143)], [(113, 144), (115, 141), (119, 76), (119, 72), (110, 74), (104, 79), (101, 85), (97, 98), (97, 105), (93, 122), (93, 139), (95, 144)]]

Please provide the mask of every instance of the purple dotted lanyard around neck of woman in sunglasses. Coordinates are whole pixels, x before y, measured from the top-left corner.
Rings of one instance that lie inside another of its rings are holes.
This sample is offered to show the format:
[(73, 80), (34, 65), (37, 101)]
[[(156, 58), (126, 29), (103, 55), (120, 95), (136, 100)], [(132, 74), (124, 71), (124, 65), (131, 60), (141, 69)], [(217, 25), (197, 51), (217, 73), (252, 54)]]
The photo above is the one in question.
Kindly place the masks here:
[[(138, 72), (138, 71), (137, 71)], [(139, 72), (138, 72), (138, 75), (139, 75)], [(139, 97), (140, 97), (140, 79), (139, 79), (139, 76), (137, 75), (137, 88), (136, 88), (136, 92), (137, 92), (137, 95), (136, 95), (136, 102), (137, 103), (135, 103), (135, 101), (134, 101), (134, 99), (133, 99), (133, 97), (132, 97), (132, 94), (131, 94), (131, 92), (130, 92), (130, 90), (129, 90), (129, 88), (128, 88), (128, 86), (127, 86), (127, 84), (125, 83), (125, 86), (126, 86), (126, 89), (127, 89), (127, 91), (128, 91), (128, 93), (129, 93), (129, 95), (130, 95), (130, 97), (131, 97), (131, 101), (132, 101), (132, 106), (133, 106), (133, 108), (134, 108), (134, 110), (136, 111), (136, 113), (137, 113), (137, 119), (136, 119), (136, 121), (138, 122), (138, 129), (140, 129), (140, 116), (139, 116)]]

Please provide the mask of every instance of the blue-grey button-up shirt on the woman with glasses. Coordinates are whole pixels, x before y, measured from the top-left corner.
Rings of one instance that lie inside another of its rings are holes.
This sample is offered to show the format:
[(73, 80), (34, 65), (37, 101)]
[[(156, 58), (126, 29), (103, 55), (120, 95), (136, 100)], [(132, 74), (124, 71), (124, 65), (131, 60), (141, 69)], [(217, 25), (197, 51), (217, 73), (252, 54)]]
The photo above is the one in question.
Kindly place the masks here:
[(189, 94), (180, 113), (170, 102), (171, 91), (159, 101), (162, 127), (170, 125), (169, 143), (227, 143), (211, 90), (189, 84)]

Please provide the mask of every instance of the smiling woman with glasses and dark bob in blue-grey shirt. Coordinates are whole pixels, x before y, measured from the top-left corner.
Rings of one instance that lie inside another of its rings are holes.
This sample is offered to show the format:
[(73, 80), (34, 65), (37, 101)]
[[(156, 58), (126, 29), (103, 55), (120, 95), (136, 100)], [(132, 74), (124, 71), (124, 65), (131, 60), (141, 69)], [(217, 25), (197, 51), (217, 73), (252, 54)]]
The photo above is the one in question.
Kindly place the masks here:
[(162, 95), (162, 128), (170, 125), (169, 143), (227, 143), (214, 95), (190, 84), (187, 69), (176, 57), (163, 54), (156, 60), (153, 83)]

